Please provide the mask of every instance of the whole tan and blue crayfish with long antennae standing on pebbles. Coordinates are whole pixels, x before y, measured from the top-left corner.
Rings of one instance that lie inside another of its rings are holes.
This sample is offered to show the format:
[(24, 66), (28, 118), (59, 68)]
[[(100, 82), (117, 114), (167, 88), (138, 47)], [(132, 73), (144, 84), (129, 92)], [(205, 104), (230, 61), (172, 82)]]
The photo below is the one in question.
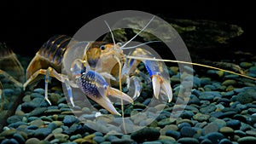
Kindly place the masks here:
[[(137, 35), (143, 32), (150, 22), (151, 20)], [(111, 32), (110, 28), (109, 30)], [(51, 105), (48, 98), (48, 84), (49, 77), (53, 77), (64, 84), (69, 101), (73, 107), (76, 107), (73, 89), (80, 89), (84, 95), (96, 101), (100, 106), (107, 109), (108, 112), (120, 115), (115, 107), (113, 107), (112, 101), (110, 101), (108, 96), (111, 95), (121, 99), (121, 101), (133, 103), (142, 90), (137, 78), (137, 75), (142, 74), (142, 72), (137, 69), (137, 66), (143, 62), (151, 78), (155, 98), (159, 99), (159, 95), (165, 95), (168, 101), (171, 102), (172, 87), (164, 61), (204, 65), (186, 61), (156, 59), (148, 50), (138, 48), (147, 43), (133, 46), (131, 49), (134, 50), (130, 54), (125, 55), (123, 50), (128, 49), (125, 46), (131, 43), (137, 35), (126, 43), (115, 43), (113, 35), (113, 43), (79, 42), (66, 35), (50, 37), (41, 49), (38, 50), (38, 53), (27, 67), (26, 83), (23, 84), (23, 88), (26, 89), (29, 85), (37, 84), (39, 80), (44, 78), (44, 98)], [(218, 69), (212, 66), (207, 67)], [(0, 72), (0, 74), (6, 75), (5, 72)], [(127, 84), (127, 87), (130, 84), (135, 85), (134, 95), (127, 95), (120, 88), (113, 88), (111, 82), (113, 82), (113, 85), (119, 85), (119, 87), (124, 83)]]

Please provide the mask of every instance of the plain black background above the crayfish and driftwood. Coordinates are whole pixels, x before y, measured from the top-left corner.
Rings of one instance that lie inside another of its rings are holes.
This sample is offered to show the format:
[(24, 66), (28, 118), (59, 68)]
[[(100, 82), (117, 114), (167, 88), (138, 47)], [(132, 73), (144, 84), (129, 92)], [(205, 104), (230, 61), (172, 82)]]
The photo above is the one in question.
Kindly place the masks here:
[(244, 33), (233, 46), (242, 51), (254, 49), (255, 10), (253, 3), (245, 1), (1, 1), (0, 41), (7, 43), (17, 54), (32, 56), (49, 37), (55, 34), (73, 36), (88, 21), (117, 10), (140, 10), (170, 18), (236, 24)]

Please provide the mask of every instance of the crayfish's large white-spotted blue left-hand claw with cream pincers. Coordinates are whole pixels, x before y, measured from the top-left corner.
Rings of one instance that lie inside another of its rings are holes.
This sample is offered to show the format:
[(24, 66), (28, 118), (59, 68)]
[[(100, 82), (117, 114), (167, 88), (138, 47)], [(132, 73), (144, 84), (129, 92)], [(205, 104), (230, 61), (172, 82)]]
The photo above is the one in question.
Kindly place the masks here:
[(72, 70), (73, 78), (84, 95), (96, 101), (96, 103), (104, 107), (108, 112), (116, 115), (121, 114), (113, 107), (112, 102), (108, 99), (109, 95), (133, 103), (129, 95), (126, 95), (118, 89), (111, 88), (100, 73), (86, 69), (89, 68), (84, 66), (83, 61), (77, 60)]

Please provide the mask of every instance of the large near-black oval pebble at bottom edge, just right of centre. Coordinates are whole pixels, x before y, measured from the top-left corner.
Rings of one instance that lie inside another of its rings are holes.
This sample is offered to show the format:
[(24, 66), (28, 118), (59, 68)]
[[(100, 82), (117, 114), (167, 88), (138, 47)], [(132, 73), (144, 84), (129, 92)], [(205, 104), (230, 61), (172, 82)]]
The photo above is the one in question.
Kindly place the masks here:
[(154, 141), (160, 136), (160, 131), (153, 127), (145, 127), (142, 130), (138, 130), (131, 133), (131, 139), (135, 141)]

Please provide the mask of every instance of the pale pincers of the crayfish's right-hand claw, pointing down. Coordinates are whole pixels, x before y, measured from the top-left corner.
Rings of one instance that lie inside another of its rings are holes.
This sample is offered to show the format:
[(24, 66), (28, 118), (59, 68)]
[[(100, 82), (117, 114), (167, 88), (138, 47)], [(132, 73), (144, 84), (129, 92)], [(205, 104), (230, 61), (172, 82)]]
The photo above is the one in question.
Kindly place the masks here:
[(153, 75), (152, 85), (154, 89), (154, 96), (156, 99), (159, 99), (160, 93), (164, 93), (164, 95), (167, 95), (168, 97), (168, 102), (172, 101), (172, 87), (168, 80), (158, 74)]

